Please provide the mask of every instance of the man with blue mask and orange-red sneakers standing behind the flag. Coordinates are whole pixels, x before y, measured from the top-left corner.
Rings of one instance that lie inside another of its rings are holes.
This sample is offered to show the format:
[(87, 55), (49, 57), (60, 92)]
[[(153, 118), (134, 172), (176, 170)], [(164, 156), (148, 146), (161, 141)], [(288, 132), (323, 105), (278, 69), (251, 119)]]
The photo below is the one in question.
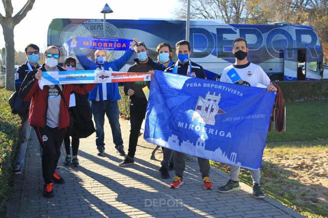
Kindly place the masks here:
[[(197, 65), (196, 63), (190, 61), (189, 57), (191, 55), (190, 43), (186, 40), (181, 40), (175, 44), (175, 52), (178, 57), (178, 61), (166, 68), (165, 72), (177, 73), (181, 75), (187, 75), (191, 77), (198, 77), (206, 79), (206, 75), (202, 66)], [(174, 160), (174, 171), (175, 177), (173, 182), (170, 184), (171, 188), (179, 188), (180, 185), (183, 185), (183, 171), (185, 170), (185, 154), (178, 151), (172, 151), (170, 149), (164, 149), (164, 155), (172, 155), (170, 152), (173, 152)], [(165, 157), (164, 157), (165, 158)], [(166, 157), (167, 158), (167, 157)], [(209, 178), (210, 172), (210, 161), (205, 158), (197, 157), (199, 164), (199, 171), (202, 173), (204, 189), (213, 189), (213, 183)]]

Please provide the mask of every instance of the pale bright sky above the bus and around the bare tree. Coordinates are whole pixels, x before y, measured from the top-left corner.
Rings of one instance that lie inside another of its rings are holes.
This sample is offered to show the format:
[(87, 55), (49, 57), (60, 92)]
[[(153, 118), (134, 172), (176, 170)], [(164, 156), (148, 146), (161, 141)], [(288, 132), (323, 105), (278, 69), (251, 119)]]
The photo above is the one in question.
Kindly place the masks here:
[[(14, 16), (27, 0), (12, 0)], [(108, 3), (113, 13), (106, 19), (173, 18), (177, 0), (35, 0), (33, 8), (15, 26), (15, 50), (24, 51), (29, 43), (37, 44), (43, 51), (47, 46), (48, 26), (54, 18), (102, 19), (100, 13)], [(0, 3), (0, 13), (4, 15)], [(0, 27), (0, 49), (4, 47), (2, 27)]]

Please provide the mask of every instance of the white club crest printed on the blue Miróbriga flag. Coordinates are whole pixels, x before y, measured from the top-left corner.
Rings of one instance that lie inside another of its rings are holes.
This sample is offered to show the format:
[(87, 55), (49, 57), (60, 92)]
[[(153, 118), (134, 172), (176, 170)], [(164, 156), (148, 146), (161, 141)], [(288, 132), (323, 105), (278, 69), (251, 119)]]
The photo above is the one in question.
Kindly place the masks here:
[(199, 123), (205, 123), (209, 125), (215, 125), (215, 116), (218, 114), (225, 114), (226, 112), (219, 107), (219, 102), (221, 100), (221, 93), (219, 95), (213, 95), (208, 92), (206, 97), (203, 98), (199, 96), (195, 111), (192, 116), (192, 121), (194, 118), (198, 117)]

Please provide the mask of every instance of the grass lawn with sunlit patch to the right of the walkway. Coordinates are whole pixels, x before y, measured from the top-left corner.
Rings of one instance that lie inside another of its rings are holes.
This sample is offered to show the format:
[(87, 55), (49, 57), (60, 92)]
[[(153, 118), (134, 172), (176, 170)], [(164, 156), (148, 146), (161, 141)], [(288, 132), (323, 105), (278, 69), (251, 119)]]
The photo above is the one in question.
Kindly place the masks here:
[[(266, 196), (308, 218), (328, 217), (328, 101), (288, 103), (287, 128), (268, 134), (261, 167)], [(229, 174), (229, 165), (211, 161)], [(249, 170), (241, 182), (252, 185)]]

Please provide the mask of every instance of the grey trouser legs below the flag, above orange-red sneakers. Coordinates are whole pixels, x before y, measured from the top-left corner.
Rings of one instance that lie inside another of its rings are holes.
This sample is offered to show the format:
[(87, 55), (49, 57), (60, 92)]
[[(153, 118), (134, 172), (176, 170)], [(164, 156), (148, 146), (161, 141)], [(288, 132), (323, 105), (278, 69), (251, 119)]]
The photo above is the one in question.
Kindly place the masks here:
[[(184, 153), (173, 151), (174, 171), (175, 175), (183, 177), (183, 171), (185, 170)], [(210, 161), (201, 157), (197, 157), (199, 164), (199, 171), (202, 176), (208, 176), (210, 173)]]

